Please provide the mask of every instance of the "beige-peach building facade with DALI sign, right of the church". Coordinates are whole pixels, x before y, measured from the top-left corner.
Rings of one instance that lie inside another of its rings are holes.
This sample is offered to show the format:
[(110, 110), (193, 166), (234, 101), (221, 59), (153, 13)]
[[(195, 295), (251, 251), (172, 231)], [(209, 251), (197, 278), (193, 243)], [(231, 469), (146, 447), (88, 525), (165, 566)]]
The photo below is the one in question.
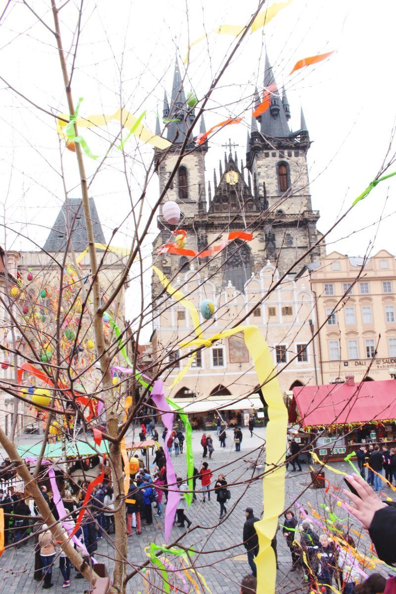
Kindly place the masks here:
[(311, 287), (321, 328), (320, 383), (350, 374), (358, 381), (389, 379), (396, 367), (394, 255), (381, 250), (363, 259), (332, 252), (306, 266), (300, 278)]

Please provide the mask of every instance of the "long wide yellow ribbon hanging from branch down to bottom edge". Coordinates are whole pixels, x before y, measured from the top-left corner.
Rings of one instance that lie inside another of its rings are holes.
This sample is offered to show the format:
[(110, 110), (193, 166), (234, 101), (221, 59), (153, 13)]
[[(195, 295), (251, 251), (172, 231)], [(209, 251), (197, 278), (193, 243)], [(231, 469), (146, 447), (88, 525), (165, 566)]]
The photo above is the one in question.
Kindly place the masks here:
[[(158, 268), (153, 266), (153, 270), (159, 276), (160, 282), (167, 292), (175, 299), (178, 299), (191, 313), (198, 337), (181, 342), (180, 347), (209, 347), (215, 340), (221, 340), (243, 332), (245, 344), (253, 359), (259, 383), (262, 386), (265, 384), (265, 391), (262, 388), (262, 394), (265, 397), (265, 402), (267, 402), (268, 416), (270, 418), (267, 425), (266, 465), (267, 469), (273, 465), (273, 469), (263, 479), (264, 514), (262, 520), (255, 523), (259, 541), (259, 552), (255, 563), (258, 571), (257, 594), (270, 594), (271, 592), (275, 592), (276, 561), (273, 548), (271, 547), (271, 541), (277, 530), (278, 517), (283, 511), (284, 505), (284, 475), (286, 470), (283, 463), (286, 457), (286, 451), (283, 437), (286, 438), (287, 434), (287, 409), (283, 402), (278, 380), (274, 374), (274, 363), (270, 349), (268, 349), (264, 337), (256, 326), (237, 326), (236, 328), (214, 334), (210, 339), (202, 339), (202, 330), (199, 325), (197, 309), (195, 309), (191, 301), (181, 291), (173, 289), (167, 278)], [(183, 375), (188, 371), (191, 362), (192, 357), (189, 359)], [(179, 381), (179, 375), (180, 373), (173, 382), (173, 386)]]

